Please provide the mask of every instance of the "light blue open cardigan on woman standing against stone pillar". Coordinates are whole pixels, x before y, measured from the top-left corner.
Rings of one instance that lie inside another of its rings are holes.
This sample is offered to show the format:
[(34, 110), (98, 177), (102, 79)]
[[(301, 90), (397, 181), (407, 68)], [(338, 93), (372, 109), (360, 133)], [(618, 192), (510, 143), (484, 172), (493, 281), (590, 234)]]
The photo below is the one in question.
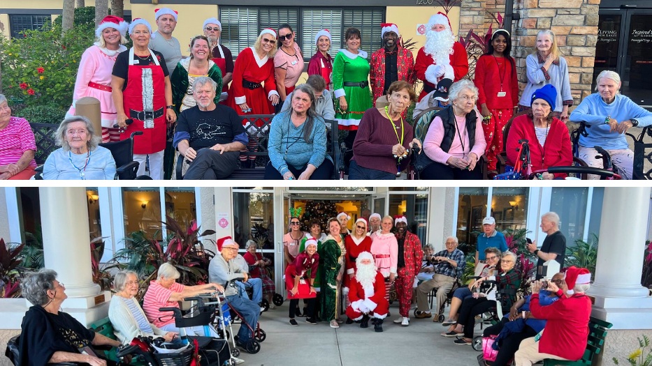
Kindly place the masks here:
[(526, 58), (526, 75), (528, 76), (528, 84), (526, 85), (526, 89), (523, 89), (519, 105), (530, 107), (530, 105), (532, 105), (532, 93), (537, 91), (537, 89), (541, 89), (541, 87), (546, 84), (552, 84), (552, 86), (557, 89), (555, 112), (561, 112), (564, 109), (564, 100), (573, 100), (573, 96), (570, 92), (570, 80), (568, 79), (568, 66), (566, 60), (562, 56), (559, 56), (559, 65), (553, 63), (550, 68), (548, 68), (548, 75), (550, 77), (548, 80), (546, 80), (543, 70), (541, 70), (543, 64), (544, 63), (539, 63), (536, 54), (530, 54)]

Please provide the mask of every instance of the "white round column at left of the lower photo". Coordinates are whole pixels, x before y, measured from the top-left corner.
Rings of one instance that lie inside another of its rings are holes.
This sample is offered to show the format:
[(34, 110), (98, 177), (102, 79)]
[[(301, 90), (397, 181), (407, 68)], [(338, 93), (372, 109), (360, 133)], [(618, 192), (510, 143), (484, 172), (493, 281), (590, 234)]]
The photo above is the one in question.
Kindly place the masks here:
[(92, 280), (85, 188), (43, 187), (38, 192), (45, 268), (57, 271), (68, 297), (96, 296), (100, 287)]

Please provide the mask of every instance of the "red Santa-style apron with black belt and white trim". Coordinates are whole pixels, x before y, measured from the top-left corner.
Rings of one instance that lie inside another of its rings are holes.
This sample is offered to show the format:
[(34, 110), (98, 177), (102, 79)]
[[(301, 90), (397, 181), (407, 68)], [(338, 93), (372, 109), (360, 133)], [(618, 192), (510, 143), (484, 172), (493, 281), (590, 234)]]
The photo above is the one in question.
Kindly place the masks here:
[(120, 134), (128, 139), (131, 132), (143, 131), (133, 139), (133, 153), (150, 154), (166, 146), (165, 75), (157, 56), (150, 49), (155, 65), (134, 65), (133, 48), (129, 49), (129, 77), (122, 92), (124, 113), (133, 123)]

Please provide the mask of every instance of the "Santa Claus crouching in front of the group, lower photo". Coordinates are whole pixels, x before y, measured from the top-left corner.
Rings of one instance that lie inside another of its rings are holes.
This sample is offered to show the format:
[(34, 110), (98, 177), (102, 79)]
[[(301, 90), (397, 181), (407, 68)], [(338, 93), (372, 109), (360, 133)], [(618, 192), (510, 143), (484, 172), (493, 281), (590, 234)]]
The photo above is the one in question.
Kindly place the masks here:
[[(370, 263), (363, 264), (365, 259)], [(384, 277), (376, 270), (370, 252), (362, 252), (358, 256), (356, 268), (356, 276), (352, 279), (349, 289), (351, 305), (347, 307), (347, 316), (349, 319), (361, 320), (360, 328), (367, 328), (367, 321), (372, 317), (375, 330), (382, 332), (382, 321), (389, 312)]]

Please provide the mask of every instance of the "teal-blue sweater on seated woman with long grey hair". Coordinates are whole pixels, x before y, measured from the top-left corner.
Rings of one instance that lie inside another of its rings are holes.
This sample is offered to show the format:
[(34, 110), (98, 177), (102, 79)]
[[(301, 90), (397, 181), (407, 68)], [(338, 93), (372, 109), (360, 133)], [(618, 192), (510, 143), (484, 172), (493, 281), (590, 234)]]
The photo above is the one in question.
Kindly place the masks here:
[[(272, 120), (268, 151), (270, 162), (281, 175), (289, 171), (288, 165), (303, 170), (312, 164), (319, 167), (325, 158), (331, 160), (326, 154), (326, 123), (317, 116), (312, 124), (310, 143), (303, 139), (303, 126), (294, 126), (289, 119), (289, 111), (277, 114)], [(332, 160), (331, 160), (332, 161)]]

